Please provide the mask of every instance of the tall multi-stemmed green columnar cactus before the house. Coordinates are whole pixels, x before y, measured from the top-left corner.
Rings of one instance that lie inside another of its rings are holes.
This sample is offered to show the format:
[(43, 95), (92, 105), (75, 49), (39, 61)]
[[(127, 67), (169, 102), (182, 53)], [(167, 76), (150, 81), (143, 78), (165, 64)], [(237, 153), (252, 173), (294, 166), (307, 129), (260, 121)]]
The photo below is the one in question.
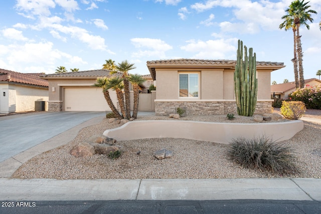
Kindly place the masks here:
[(253, 49), (244, 46), (243, 61), (243, 42), (238, 41), (237, 59), (234, 72), (234, 92), (238, 115), (252, 116), (257, 101), (257, 79), (256, 79), (256, 54)]

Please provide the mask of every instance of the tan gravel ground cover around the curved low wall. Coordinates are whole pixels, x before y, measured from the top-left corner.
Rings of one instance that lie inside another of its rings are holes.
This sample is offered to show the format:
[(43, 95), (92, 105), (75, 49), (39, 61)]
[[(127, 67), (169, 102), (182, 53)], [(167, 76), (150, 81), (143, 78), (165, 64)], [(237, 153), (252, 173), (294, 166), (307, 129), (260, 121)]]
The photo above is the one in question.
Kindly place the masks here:
[[(277, 112), (278, 109), (275, 109)], [(308, 113), (308, 112), (307, 112)], [(311, 117), (321, 119), (321, 110), (313, 111)], [(144, 116), (137, 120), (167, 119), (167, 116)], [(236, 115), (227, 120), (226, 115), (187, 116), (181, 120), (208, 122), (253, 122), (250, 117)], [(76, 158), (69, 151), (78, 143), (106, 129), (118, 127), (103, 119), (100, 123), (83, 128), (78, 136), (64, 146), (42, 153), (25, 164), (14, 174), (14, 178), (55, 179), (136, 179), (136, 178), (267, 178), (306, 177), (321, 178), (321, 125), (304, 122), (304, 129), (290, 140), (280, 143), (290, 145), (297, 155), (300, 173), (293, 175), (270, 174), (244, 169), (227, 159), (228, 145), (188, 140), (181, 138), (153, 138), (117, 141), (125, 152), (115, 160), (104, 155)], [(143, 131), (143, 130), (141, 130)], [(153, 152), (162, 148), (174, 151), (174, 156), (163, 160), (153, 157)], [(140, 151), (137, 155), (136, 152)]]

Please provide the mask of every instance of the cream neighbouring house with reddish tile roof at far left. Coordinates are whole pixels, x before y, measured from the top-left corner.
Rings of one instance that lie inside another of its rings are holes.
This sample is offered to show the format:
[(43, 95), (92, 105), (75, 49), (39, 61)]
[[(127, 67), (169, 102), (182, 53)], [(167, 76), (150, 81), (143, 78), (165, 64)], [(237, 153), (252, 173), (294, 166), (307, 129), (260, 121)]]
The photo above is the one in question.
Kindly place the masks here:
[(35, 111), (35, 101), (48, 100), (48, 81), (0, 69), (0, 113)]

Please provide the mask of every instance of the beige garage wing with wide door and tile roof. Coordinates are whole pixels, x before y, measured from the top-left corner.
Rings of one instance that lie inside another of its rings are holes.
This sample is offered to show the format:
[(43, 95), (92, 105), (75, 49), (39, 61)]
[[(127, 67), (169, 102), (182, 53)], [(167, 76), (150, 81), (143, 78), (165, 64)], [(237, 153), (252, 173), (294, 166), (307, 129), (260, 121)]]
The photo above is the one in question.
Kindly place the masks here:
[[(102, 69), (44, 75), (42, 79), (49, 81), (48, 111), (110, 111), (102, 89), (92, 86), (98, 77), (109, 76)], [(109, 93), (116, 106), (115, 91)]]

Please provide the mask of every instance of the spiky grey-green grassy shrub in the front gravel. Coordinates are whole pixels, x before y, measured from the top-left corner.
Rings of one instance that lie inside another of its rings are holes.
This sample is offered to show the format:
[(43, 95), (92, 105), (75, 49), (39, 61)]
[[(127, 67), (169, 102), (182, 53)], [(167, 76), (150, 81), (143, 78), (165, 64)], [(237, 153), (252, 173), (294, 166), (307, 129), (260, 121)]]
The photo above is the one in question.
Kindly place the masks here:
[(277, 174), (298, 172), (293, 149), (265, 136), (233, 139), (229, 147), (228, 157), (244, 168)]

